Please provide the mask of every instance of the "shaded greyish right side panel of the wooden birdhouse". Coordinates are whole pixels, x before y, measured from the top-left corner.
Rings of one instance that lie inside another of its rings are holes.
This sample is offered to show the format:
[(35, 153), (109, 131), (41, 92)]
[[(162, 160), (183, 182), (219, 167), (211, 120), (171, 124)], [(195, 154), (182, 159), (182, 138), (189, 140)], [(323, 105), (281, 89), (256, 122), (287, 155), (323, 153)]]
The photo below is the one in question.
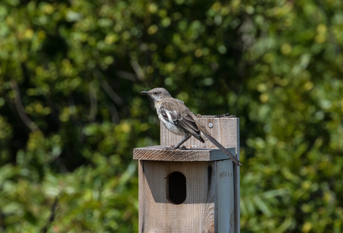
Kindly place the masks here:
[(215, 232), (235, 232), (235, 200), (233, 163), (215, 161), (217, 198), (215, 199)]

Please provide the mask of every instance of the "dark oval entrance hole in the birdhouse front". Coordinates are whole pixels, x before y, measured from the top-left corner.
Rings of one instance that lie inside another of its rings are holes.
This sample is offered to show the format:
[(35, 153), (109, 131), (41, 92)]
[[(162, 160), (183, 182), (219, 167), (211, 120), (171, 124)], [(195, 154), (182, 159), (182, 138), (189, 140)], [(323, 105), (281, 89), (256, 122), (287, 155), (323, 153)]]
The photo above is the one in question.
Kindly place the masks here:
[(186, 176), (181, 172), (172, 172), (167, 176), (167, 199), (174, 205), (186, 200)]

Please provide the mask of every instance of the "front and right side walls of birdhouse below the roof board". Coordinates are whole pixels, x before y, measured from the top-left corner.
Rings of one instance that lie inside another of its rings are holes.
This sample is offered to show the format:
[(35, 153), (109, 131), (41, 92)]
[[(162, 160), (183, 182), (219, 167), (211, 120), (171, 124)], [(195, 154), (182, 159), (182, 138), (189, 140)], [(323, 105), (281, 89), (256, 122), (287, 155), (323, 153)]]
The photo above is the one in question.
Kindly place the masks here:
[[(224, 154), (224, 153), (223, 153)], [(169, 203), (168, 174), (186, 177), (184, 203)], [(139, 232), (234, 232), (233, 163), (139, 160)]]

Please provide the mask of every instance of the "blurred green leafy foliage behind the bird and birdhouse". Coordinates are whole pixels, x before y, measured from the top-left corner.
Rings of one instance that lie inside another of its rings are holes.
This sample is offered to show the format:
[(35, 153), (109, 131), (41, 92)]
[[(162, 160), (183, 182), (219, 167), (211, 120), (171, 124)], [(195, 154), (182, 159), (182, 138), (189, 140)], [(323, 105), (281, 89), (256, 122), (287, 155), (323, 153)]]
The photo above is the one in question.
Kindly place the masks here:
[(0, 232), (137, 232), (154, 87), (240, 118), (241, 232), (343, 232), (342, 49), (341, 0), (1, 1)]

